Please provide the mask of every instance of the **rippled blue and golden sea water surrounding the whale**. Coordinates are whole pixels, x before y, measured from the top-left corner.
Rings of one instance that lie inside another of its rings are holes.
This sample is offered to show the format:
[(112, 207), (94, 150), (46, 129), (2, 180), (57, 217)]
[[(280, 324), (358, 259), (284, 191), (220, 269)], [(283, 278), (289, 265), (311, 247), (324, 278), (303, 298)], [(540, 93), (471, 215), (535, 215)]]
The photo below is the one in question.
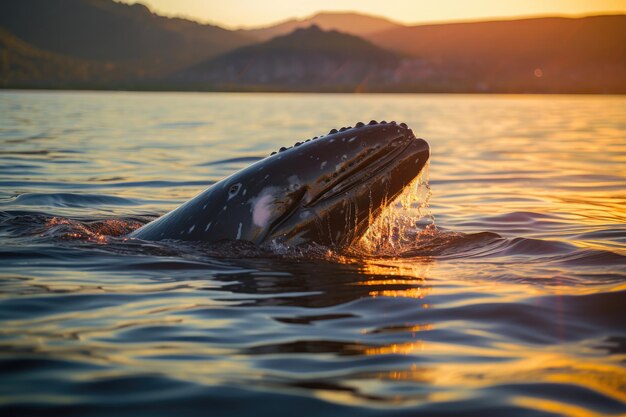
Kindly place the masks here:
[[(125, 238), (370, 119), (431, 145), (408, 238)], [(0, 144), (3, 416), (626, 413), (623, 96), (3, 91)]]

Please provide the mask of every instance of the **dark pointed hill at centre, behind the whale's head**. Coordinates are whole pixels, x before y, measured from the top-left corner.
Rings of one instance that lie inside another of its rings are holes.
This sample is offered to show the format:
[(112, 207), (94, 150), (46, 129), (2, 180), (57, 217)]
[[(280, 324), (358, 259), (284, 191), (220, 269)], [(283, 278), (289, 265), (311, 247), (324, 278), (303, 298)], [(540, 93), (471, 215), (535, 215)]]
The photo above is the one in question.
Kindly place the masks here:
[(359, 37), (311, 26), (194, 65), (174, 80), (216, 89), (354, 91), (384, 82), (399, 62)]

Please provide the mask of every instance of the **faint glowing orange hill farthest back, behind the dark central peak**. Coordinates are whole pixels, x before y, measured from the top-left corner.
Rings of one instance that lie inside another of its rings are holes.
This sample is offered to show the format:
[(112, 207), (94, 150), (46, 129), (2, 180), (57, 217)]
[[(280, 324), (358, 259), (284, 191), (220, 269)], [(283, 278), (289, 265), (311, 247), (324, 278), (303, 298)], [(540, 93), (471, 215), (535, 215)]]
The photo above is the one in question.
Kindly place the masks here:
[(264, 41), (313, 25), (323, 30), (336, 30), (357, 36), (372, 35), (377, 32), (404, 27), (379, 16), (352, 12), (321, 12), (304, 19), (289, 19), (272, 26), (243, 29), (240, 32)]

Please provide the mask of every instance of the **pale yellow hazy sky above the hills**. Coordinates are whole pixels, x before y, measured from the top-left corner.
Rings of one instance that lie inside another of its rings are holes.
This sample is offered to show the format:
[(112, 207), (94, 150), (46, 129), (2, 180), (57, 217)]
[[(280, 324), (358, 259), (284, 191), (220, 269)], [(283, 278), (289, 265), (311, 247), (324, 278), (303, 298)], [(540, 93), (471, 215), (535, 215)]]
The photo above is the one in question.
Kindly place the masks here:
[(228, 28), (262, 26), (322, 10), (358, 11), (402, 23), (626, 13), (626, 0), (140, 0), (139, 3), (160, 14), (185, 16)]

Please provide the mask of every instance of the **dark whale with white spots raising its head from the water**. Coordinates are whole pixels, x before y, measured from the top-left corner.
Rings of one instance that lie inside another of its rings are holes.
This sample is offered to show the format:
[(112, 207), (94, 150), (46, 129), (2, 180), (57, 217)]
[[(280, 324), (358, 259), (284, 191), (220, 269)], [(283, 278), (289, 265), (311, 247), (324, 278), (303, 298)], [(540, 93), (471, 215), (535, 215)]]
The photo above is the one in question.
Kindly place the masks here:
[(430, 157), (405, 123), (357, 123), (282, 147), (129, 237), (147, 241), (344, 248), (359, 239)]

